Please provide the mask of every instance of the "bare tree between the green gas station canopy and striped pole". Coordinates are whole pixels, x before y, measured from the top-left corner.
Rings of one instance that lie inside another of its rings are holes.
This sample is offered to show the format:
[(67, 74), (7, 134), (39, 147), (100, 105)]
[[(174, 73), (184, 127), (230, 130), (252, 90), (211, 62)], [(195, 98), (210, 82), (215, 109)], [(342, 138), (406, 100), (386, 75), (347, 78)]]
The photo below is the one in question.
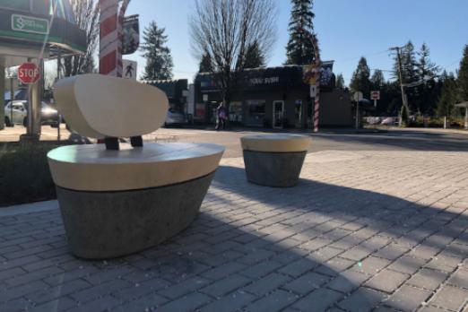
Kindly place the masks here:
[(71, 0), (78, 27), (86, 32), (86, 53), (82, 56), (67, 56), (63, 60), (65, 77), (92, 73), (95, 70), (94, 56), (100, 37), (100, 8), (96, 0)]

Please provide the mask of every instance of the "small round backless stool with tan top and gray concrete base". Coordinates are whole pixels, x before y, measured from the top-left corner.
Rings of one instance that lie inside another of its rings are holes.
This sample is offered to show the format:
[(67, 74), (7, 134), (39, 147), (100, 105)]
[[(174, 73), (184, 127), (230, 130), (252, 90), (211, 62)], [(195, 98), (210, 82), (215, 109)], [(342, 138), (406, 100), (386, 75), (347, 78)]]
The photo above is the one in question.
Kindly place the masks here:
[(298, 134), (249, 135), (240, 139), (247, 180), (273, 187), (296, 186), (311, 139)]

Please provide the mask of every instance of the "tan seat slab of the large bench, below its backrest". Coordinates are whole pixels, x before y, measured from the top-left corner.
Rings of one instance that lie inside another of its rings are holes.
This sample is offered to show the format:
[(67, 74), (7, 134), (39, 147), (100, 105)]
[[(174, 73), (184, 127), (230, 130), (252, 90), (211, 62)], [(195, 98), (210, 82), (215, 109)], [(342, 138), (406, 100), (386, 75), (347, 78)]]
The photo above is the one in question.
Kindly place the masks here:
[(89, 191), (126, 191), (169, 186), (202, 178), (216, 170), (224, 148), (214, 144), (147, 143), (143, 148), (121, 144), (72, 145), (48, 152), (57, 186)]

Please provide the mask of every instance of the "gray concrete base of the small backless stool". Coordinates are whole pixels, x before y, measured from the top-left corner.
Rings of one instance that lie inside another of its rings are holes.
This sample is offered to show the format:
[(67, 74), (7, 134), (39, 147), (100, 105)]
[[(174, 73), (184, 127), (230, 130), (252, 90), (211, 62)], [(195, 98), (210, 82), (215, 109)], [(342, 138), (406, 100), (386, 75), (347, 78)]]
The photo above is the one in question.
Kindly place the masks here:
[(307, 152), (252, 152), (244, 150), (247, 180), (261, 186), (298, 184)]

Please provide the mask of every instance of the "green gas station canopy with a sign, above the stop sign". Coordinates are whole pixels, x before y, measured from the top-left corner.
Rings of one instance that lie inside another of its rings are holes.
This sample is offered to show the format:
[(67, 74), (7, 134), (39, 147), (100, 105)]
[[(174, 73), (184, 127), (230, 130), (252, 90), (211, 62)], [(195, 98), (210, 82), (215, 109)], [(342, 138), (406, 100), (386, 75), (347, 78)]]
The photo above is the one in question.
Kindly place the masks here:
[(86, 34), (76, 24), (68, 0), (0, 0), (0, 65), (20, 65), (25, 57), (38, 57), (46, 39), (46, 59), (86, 51)]

